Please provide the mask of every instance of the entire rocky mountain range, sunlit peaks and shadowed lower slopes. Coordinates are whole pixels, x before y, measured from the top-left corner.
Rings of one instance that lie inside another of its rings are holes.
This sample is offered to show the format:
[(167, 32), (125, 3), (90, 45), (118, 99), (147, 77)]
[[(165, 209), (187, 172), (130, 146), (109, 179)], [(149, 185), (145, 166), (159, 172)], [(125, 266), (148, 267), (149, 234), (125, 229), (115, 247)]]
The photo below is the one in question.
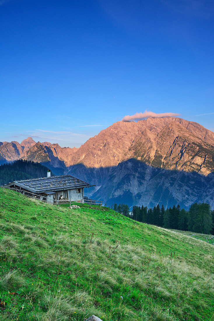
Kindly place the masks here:
[(164, 206), (208, 202), (214, 208), (214, 133), (179, 117), (119, 121), (79, 148), (0, 142), (0, 162), (33, 160), (56, 175), (69, 173), (95, 188), (107, 205)]

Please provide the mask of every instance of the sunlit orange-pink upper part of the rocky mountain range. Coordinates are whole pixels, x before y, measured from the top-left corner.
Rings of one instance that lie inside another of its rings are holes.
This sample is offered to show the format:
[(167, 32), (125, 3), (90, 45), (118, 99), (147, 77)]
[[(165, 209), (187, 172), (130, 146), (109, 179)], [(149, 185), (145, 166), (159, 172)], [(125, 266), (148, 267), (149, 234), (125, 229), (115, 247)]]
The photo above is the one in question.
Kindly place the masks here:
[(149, 117), (138, 122), (116, 122), (79, 148), (36, 143), (28, 138), (21, 144), (3, 143), (0, 156), (7, 161), (54, 159), (56, 167), (58, 158), (67, 168), (79, 163), (91, 168), (117, 166), (136, 158), (154, 167), (208, 175), (214, 170), (214, 133), (179, 117)]

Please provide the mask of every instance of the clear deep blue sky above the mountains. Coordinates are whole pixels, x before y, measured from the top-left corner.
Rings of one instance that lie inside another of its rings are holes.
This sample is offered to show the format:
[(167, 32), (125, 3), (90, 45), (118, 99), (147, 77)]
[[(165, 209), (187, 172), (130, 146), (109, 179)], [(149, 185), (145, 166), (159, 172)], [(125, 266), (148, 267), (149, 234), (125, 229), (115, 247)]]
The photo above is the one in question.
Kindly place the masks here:
[(78, 147), (146, 109), (214, 131), (213, 18), (213, 0), (0, 0), (0, 141)]

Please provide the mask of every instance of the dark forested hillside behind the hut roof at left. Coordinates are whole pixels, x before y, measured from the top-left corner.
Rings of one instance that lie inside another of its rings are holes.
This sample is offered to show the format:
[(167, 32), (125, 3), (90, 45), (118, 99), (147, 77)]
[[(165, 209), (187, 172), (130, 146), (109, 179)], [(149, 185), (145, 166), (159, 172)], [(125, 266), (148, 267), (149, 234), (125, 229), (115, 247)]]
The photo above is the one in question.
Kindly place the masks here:
[(15, 180), (47, 177), (47, 170), (48, 168), (42, 164), (26, 160), (2, 164), (0, 165), (0, 186)]

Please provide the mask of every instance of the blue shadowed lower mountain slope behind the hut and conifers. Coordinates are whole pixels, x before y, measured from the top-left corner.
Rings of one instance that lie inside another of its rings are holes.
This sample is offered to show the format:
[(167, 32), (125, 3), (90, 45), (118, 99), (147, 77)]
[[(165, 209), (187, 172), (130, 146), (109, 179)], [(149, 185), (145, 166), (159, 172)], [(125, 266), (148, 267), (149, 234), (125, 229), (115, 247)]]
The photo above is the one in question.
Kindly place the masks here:
[(85, 193), (107, 205), (114, 203), (165, 208), (179, 204), (188, 209), (194, 202), (209, 203), (214, 209), (214, 173), (207, 176), (196, 172), (160, 169), (131, 159), (117, 166), (87, 168), (74, 165), (70, 175), (96, 184)]

